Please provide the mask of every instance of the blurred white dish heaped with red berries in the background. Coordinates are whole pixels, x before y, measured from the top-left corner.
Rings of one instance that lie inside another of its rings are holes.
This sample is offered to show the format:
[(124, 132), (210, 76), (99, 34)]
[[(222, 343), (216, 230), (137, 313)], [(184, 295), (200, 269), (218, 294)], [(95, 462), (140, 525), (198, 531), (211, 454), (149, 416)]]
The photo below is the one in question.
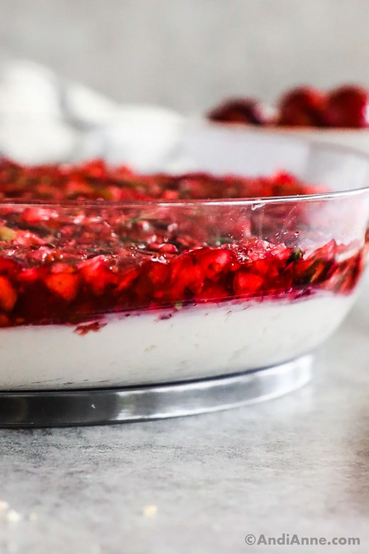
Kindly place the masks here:
[(222, 124), (251, 125), (369, 152), (369, 91), (343, 85), (321, 91), (299, 86), (285, 91), (275, 106), (254, 98), (233, 98), (207, 113)]

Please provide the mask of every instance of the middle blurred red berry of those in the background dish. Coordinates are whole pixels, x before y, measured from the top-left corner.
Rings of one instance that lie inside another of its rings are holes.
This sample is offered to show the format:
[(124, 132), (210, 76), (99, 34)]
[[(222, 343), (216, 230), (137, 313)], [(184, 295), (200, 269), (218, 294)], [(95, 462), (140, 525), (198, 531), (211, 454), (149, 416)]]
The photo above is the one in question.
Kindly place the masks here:
[(323, 123), (326, 96), (310, 86), (287, 91), (279, 101), (279, 125), (316, 127)]

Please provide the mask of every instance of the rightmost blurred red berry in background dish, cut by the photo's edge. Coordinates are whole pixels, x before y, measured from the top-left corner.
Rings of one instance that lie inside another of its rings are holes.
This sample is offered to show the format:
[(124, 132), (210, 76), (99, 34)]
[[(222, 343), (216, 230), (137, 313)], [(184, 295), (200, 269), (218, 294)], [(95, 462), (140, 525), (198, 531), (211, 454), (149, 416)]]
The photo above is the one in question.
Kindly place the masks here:
[(328, 127), (368, 127), (369, 94), (360, 86), (342, 86), (330, 93), (324, 110)]

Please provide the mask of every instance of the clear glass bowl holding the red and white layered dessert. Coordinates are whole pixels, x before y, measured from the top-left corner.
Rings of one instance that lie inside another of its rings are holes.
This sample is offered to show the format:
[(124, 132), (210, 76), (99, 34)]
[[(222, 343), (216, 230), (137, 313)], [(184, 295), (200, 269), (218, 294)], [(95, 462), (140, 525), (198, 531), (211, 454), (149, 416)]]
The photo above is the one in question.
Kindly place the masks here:
[(2, 200), (0, 389), (233, 375), (298, 360), (337, 329), (367, 258), (368, 158), (197, 124), (184, 132), (181, 155), (196, 171), (283, 170), (326, 192)]

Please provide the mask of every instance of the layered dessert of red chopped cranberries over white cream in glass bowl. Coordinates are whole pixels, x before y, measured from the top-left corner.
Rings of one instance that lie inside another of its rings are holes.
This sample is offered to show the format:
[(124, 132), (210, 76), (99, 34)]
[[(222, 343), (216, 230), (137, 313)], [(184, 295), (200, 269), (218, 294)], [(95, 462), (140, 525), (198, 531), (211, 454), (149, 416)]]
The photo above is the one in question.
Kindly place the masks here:
[(367, 252), (365, 232), (331, 236), (324, 192), (287, 173), (2, 160), (1, 388), (183, 381), (310, 352)]

